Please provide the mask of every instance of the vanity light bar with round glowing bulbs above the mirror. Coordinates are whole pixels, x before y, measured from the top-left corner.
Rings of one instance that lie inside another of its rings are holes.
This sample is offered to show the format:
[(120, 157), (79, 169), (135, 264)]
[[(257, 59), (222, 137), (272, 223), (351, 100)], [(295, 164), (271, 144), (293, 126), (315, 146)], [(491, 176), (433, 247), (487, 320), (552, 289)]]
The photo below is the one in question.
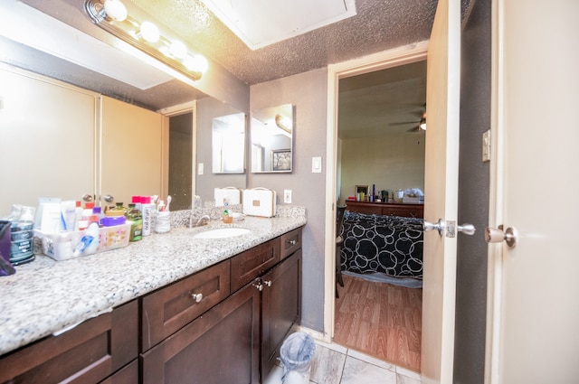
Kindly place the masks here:
[(184, 42), (170, 40), (151, 22), (138, 22), (127, 13), (120, 0), (86, 0), (84, 9), (90, 20), (103, 30), (162, 61), (192, 80), (200, 80), (207, 60), (191, 53)]

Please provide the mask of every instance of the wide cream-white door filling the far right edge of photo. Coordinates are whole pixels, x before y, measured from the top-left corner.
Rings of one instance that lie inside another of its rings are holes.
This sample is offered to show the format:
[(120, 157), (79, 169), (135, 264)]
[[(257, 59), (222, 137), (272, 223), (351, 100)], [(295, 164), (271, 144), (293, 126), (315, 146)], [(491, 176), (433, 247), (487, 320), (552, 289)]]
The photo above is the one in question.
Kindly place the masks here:
[(518, 239), (489, 246), (488, 382), (577, 383), (579, 2), (493, 8), (490, 225), (514, 227)]

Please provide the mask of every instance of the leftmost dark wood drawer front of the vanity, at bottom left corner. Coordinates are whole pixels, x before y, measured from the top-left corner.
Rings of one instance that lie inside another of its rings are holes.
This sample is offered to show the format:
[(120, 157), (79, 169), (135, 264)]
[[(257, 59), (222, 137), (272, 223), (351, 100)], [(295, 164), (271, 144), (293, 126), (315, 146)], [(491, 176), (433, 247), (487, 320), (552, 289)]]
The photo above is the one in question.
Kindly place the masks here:
[[(4, 355), (0, 359), (0, 382), (113, 384), (121, 378), (124, 383), (137, 384), (138, 376), (131, 375), (134, 370), (120, 370), (137, 357), (138, 302), (135, 300), (70, 331)], [(119, 377), (110, 377), (117, 370), (120, 370)]]

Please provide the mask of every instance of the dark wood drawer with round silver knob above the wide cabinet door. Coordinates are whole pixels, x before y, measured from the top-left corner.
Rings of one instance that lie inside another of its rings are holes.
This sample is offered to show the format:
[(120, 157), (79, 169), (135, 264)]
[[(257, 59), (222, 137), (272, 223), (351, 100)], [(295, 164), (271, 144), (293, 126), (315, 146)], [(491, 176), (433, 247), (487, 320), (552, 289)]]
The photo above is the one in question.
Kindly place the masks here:
[(230, 294), (230, 260), (142, 298), (142, 345), (147, 351)]

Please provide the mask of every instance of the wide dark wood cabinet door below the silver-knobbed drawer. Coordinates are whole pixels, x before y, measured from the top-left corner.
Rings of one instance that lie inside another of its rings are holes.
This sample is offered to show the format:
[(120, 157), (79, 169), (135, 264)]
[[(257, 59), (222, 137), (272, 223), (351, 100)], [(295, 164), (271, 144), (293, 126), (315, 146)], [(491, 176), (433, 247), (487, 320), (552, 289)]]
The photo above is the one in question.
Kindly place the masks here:
[(260, 292), (248, 285), (141, 354), (143, 384), (259, 382)]

